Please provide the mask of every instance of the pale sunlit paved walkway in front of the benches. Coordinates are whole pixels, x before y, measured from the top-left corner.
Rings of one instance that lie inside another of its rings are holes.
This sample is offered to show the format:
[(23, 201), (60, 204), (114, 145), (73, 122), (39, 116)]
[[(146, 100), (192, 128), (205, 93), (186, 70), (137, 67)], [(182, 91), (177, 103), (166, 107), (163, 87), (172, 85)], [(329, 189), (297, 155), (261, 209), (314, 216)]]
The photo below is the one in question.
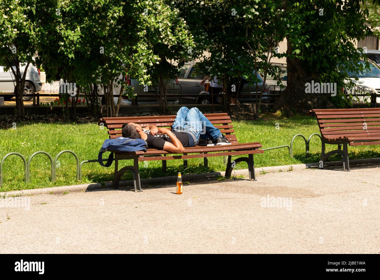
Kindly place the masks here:
[(380, 253), (379, 171), (30, 196), (0, 208), (0, 253)]

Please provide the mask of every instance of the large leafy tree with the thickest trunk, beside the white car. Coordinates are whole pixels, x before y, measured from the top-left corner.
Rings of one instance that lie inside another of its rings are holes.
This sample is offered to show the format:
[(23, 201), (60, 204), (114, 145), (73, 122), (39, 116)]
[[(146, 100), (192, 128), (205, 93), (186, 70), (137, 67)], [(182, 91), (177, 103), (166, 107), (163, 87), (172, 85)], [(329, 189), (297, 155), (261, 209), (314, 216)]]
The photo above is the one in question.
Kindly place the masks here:
[[(370, 34), (366, 11), (357, 0), (285, 1), (287, 15), (287, 88), (277, 108), (306, 111), (344, 106), (342, 87), (348, 78), (344, 68), (358, 70), (361, 54), (353, 42)], [(334, 93), (309, 93), (306, 84), (336, 83)]]

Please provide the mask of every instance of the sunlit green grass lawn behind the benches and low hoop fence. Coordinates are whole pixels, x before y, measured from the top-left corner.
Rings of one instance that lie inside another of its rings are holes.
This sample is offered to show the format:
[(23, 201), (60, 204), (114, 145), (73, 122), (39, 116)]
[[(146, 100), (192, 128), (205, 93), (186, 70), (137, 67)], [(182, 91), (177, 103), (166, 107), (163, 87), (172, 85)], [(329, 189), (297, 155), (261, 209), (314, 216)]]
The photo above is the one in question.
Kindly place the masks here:
[[(276, 129), (279, 123), (279, 129)], [(263, 148), (280, 145), (290, 145), (291, 138), (295, 134), (303, 134), (306, 138), (310, 134), (319, 132), (317, 121), (312, 116), (295, 115), (290, 118), (282, 118), (277, 115), (264, 115), (258, 121), (234, 121), (233, 126), (239, 142), (260, 141)], [(98, 151), (103, 141), (108, 138), (107, 130), (100, 129), (96, 123), (20, 123), (17, 129), (0, 129), (0, 159), (10, 152), (23, 154), (26, 159), (36, 151), (46, 151), (54, 157), (62, 150), (72, 150), (79, 161), (97, 159)], [(328, 145), (328, 151), (336, 149), (336, 146)], [(305, 156), (305, 143), (301, 137), (294, 141), (293, 155), (289, 157), (288, 149), (281, 148), (265, 151), (264, 154), (255, 154), (256, 172), (260, 167), (318, 162), (321, 152), (320, 139), (314, 136), (310, 142), (310, 157)], [(380, 156), (380, 146), (356, 146), (349, 147), (350, 159), (370, 158)], [(108, 153), (104, 157), (108, 156)], [(236, 156), (234, 158), (237, 158)], [(330, 161), (341, 159), (338, 155), (330, 157)], [(38, 154), (32, 159), (30, 183), (24, 182), (24, 164), (18, 156), (6, 159), (3, 165), (3, 186), (0, 191), (18, 189), (44, 188), (51, 186), (73, 185), (78, 183), (112, 181), (114, 165), (105, 168), (97, 162), (85, 163), (82, 168), (82, 181), (76, 180), (76, 162), (71, 154), (65, 153), (59, 157), (57, 168), (57, 181), (51, 182), (50, 161), (44, 154)], [(130, 165), (131, 161), (121, 161), (119, 168)], [(239, 163), (236, 169), (247, 168), (245, 162)], [(163, 174), (160, 161), (150, 161), (144, 167), (140, 162), (141, 178), (160, 177), (163, 175), (175, 175), (177, 172), (203, 173), (212, 171), (224, 171), (223, 157), (209, 158), (209, 168), (203, 168), (203, 159), (189, 159), (187, 169), (183, 168), (182, 160), (170, 160), (167, 163), (167, 173)], [(131, 173), (123, 175), (123, 179), (131, 179)]]

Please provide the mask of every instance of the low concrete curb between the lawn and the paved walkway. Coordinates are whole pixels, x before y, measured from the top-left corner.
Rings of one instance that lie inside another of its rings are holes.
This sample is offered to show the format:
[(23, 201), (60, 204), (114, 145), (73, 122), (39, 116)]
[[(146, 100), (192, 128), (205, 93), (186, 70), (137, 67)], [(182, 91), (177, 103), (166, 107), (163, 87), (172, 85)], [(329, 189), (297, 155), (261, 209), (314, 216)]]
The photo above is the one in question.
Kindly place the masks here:
[[(380, 157), (373, 159), (353, 159), (350, 161), (350, 166), (359, 165), (359, 164), (376, 164), (380, 163)], [(280, 166), (268, 166), (268, 167), (257, 167), (255, 169), (256, 176), (260, 176), (261, 172), (273, 173), (273, 172), (286, 172), (294, 170), (302, 170), (309, 168), (317, 168), (319, 162), (306, 163), (306, 164), (290, 164), (290, 165), (280, 165)], [(326, 162), (325, 167), (331, 166), (342, 166), (342, 161), (331, 161)], [(220, 172), (211, 172), (211, 173), (200, 173), (200, 174), (187, 174), (182, 175), (182, 181), (197, 181), (205, 179), (213, 179), (218, 176), (224, 176), (224, 171)], [(237, 169), (233, 170), (231, 176), (244, 176), (248, 177), (248, 169)], [(177, 176), (166, 176), (166, 177), (157, 177), (157, 178), (145, 178), (141, 179), (142, 186), (149, 185), (175, 185), (177, 181)], [(160, 184), (157, 184), (160, 182)], [(133, 180), (129, 181), (120, 181), (120, 187), (133, 186)], [(97, 189), (106, 189), (112, 188), (112, 182), (106, 182), (105, 184), (100, 183), (90, 183), (90, 184), (81, 184), (81, 185), (71, 185), (71, 186), (59, 186), (51, 188), (41, 188), (41, 189), (24, 189), (20, 191), (10, 191), (10, 192), (0, 192), (0, 196), (30, 196), (34, 194), (63, 194), (63, 192), (82, 192), (82, 191), (93, 191)]]

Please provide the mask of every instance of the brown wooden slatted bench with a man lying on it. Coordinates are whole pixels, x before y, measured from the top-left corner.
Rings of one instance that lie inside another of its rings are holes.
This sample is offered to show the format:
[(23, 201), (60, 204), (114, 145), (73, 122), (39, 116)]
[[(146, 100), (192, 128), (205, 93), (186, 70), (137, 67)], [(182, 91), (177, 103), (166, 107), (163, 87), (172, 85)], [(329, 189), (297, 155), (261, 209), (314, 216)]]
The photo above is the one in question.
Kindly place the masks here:
[[(187, 159), (203, 158), (204, 167), (207, 167), (208, 157), (214, 156), (228, 156), (225, 177), (231, 177), (232, 169), (238, 162), (245, 161), (248, 164), (249, 179), (256, 180), (255, 166), (253, 162), (253, 154), (264, 153), (261, 148), (260, 142), (254, 143), (239, 143), (236, 136), (233, 134), (234, 129), (230, 116), (226, 113), (204, 114), (215, 127), (225, 134), (226, 138), (231, 142), (231, 145), (220, 146), (195, 146), (186, 147), (183, 154), (174, 154), (167, 151), (156, 149), (148, 149), (146, 152), (136, 151), (133, 153), (114, 152), (115, 153), (115, 173), (113, 180), (113, 187), (119, 187), (120, 177), (123, 173), (130, 170), (133, 174), (133, 181), (135, 183), (135, 191), (141, 191), (140, 175), (139, 175), (139, 161), (162, 161), (163, 173), (166, 172), (166, 161), (169, 159), (183, 159), (184, 167), (187, 167)], [(116, 118), (101, 118), (98, 122), (100, 126), (105, 126), (108, 129), (109, 138), (117, 138), (121, 136), (121, 127), (124, 123), (135, 122), (142, 127), (154, 124), (157, 127), (171, 127), (176, 118), (175, 115), (170, 116), (140, 116), (140, 117), (116, 117)], [(249, 133), (249, 132), (247, 132)], [(232, 156), (247, 154), (248, 157), (239, 157), (234, 161), (231, 160)], [(133, 159), (133, 166), (126, 166), (118, 169), (118, 161), (122, 159)]]

